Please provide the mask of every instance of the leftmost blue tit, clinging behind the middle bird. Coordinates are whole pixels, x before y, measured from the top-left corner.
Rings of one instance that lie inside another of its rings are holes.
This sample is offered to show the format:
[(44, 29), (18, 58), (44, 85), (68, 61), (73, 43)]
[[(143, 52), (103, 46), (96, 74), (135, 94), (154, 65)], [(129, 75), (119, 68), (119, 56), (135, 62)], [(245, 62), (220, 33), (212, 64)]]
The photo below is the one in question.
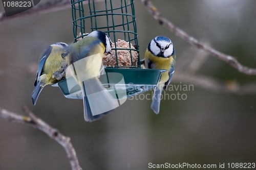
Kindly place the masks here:
[(46, 48), (39, 59), (36, 72), (35, 89), (32, 92), (32, 102), (35, 105), (42, 88), (57, 83), (65, 78), (65, 69), (68, 66), (68, 44), (59, 42)]

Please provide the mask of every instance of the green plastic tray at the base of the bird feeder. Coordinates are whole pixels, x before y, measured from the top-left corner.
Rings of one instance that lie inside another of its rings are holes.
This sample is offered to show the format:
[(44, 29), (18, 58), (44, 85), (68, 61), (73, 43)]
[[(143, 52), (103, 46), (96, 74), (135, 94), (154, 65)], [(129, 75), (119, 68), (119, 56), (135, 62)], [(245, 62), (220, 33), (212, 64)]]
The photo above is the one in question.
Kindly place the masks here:
[[(136, 94), (154, 88), (161, 77), (163, 69), (141, 68), (105, 68), (106, 75), (99, 78), (102, 85), (113, 97), (126, 99)], [(68, 82), (73, 84), (69, 89)], [(59, 87), (63, 95), (68, 99), (83, 99), (80, 86), (75, 79), (68, 78), (53, 85)]]

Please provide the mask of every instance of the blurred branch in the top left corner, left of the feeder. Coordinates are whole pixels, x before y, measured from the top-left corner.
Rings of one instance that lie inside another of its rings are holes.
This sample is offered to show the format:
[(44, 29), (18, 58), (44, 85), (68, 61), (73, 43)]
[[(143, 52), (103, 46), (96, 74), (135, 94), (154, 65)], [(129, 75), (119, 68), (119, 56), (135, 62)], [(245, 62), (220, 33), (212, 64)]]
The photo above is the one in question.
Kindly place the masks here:
[[(95, 0), (95, 2), (102, 2), (102, 1), (103, 0)], [(83, 4), (88, 4), (88, 1), (84, 1)], [(6, 17), (4, 12), (0, 13), (0, 23), (7, 20), (22, 18), (25, 16), (46, 14), (46, 13), (65, 10), (65, 9), (71, 9), (70, 0), (56, 0), (56, 1), (50, 1), (47, 3), (41, 3), (41, 4), (39, 3), (35, 7), (27, 11), (24, 11), (22, 13), (18, 13), (16, 15)]]

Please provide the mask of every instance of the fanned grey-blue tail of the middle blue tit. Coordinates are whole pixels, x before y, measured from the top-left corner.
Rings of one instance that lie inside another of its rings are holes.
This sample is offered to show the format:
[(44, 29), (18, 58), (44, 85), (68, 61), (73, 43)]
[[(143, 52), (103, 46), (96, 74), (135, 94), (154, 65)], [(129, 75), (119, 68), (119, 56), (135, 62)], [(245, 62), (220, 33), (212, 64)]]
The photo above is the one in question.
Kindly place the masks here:
[(93, 122), (118, 107), (118, 102), (102, 86), (98, 78), (82, 82), (84, 119)]

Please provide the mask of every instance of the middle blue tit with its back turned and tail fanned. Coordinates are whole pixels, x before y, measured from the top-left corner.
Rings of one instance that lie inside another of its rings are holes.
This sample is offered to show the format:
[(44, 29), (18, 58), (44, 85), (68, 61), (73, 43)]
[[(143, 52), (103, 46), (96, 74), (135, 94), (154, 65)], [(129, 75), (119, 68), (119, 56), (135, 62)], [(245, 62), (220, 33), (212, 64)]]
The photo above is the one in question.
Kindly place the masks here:
[(71, 75), (82, 89), (84, 119), (87, 122), (93, 122), (118, 107), (117, 101), (98, 79), (101, 70), (104, 69), (103, 54), (111, 54), (111, 48), (110, 37), (101, 31), (93, 31), (68, 48), (70, 66), (66, 73)]

